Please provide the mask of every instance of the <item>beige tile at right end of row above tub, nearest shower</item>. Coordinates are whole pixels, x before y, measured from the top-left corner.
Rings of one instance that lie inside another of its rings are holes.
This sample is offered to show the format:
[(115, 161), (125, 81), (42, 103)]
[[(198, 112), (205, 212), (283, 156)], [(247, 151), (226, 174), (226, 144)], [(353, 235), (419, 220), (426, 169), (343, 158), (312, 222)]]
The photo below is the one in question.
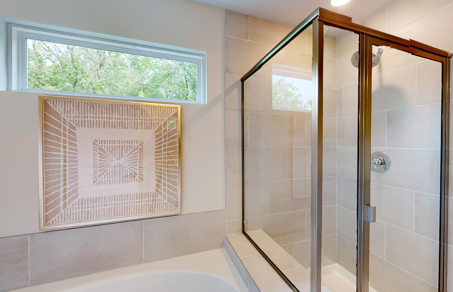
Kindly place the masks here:
[(225, 210), (144, 221), (143, 259), (154, 262), (223, 246)]

